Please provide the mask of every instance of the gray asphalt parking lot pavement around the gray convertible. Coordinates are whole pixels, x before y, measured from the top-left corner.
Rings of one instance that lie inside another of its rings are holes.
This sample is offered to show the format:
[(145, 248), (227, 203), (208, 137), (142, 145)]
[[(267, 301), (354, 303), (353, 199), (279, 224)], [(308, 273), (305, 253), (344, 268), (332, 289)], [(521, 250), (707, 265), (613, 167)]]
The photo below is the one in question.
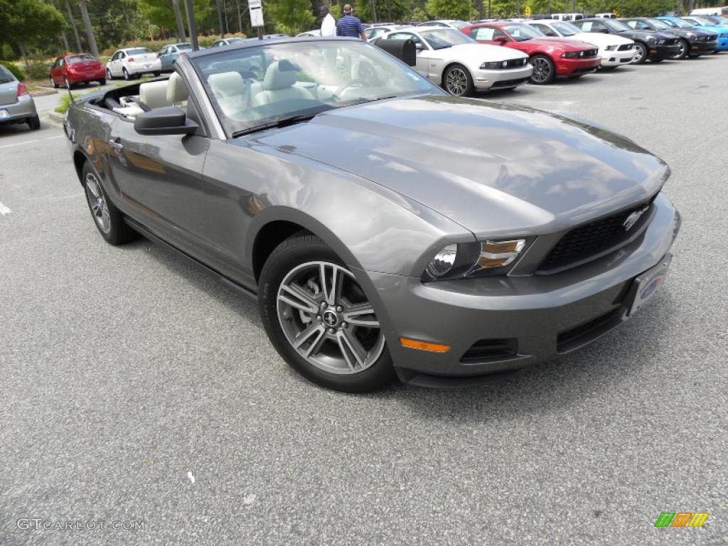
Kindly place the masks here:
[(0, 126), (0, 545), (728, 543), (726, 89), (728, 54), (483, 95), (669, 163), (668, 282), (502, 383), (373, 395), (289, 371), (253, 302), (165, 248), (107, 245), (60, 128)]

